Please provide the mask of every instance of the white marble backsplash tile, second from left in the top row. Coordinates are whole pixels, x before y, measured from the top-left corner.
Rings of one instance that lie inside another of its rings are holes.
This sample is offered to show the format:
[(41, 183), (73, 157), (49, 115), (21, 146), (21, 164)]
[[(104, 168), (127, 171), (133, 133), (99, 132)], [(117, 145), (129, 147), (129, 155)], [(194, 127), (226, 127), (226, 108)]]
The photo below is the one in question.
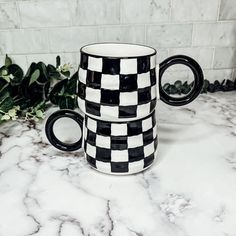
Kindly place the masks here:
[(50, 27), (71, 24), (67, 1), (19, 1), (22, 27)]

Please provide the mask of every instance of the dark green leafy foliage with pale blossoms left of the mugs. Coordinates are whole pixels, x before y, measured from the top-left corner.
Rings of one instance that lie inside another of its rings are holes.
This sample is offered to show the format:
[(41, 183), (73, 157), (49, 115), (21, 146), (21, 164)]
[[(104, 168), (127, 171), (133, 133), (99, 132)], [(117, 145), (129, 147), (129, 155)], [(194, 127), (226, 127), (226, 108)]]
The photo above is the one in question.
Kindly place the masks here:
[(24, 75), (6, 55), (5, 65), (0, 68), (0, 123), (17, 118), (38, 121), (44, 118), (50, 102), (74, 109), (78, 75), (70, 78), (71, 68), (70, 64), (62, 66), (57, 56), (56, 67), (33, 62)]

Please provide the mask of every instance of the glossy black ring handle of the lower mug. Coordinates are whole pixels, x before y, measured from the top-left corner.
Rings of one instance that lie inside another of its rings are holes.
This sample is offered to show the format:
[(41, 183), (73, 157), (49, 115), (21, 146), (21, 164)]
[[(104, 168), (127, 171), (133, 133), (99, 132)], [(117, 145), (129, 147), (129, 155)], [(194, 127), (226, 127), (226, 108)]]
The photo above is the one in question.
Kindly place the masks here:
[[(68, 117), (68, 118), (73, 119), (80, 126), (81, 137), (77, 142), (70, 143), (70, 144), (63, 143), (55, 136), (54, 131), (53, 131), (53, 126), (57, 120), (63, 117)], [(48, 141), (54, 147), (62, 151), (69, 152), (69, 151), (75, 151), (75, 150), (80, 149), (82, 147), (82, 139), (83, 139), (83, 120), (84, 118), (80, 114), (72, 110), (63, 109), (63, 110), (54, 112), (52, 115), (49, 116), (45, 125), (45, 132), (46, 132)]]

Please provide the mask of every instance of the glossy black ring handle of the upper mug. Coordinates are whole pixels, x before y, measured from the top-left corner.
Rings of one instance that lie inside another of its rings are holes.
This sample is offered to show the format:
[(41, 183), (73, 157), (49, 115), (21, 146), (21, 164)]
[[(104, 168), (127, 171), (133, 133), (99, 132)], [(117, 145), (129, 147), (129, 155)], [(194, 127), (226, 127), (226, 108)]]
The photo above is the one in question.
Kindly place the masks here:
[[(184, 97), (171, 97), (169, 96), (161, 86), (161, 79), (166, 71), (172, 65), (183, 64), (188, 66), (194, 75), (194, 85), (192, 91)], [(201, 92), (203, 87), (204, 76), (200, 65), (191, 57), (184, 55), (172, 56), (160, 63), (159, 66), (159, 89), (160, 89), (160, 99), (171, 105), (171, 106), (183, 106), (192, 102)]]

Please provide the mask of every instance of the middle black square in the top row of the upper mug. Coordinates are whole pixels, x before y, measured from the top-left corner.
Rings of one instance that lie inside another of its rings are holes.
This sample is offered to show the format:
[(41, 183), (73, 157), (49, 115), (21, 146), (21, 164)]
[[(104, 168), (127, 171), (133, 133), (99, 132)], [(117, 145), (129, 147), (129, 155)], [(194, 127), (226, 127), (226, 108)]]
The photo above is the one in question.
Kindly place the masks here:
[(120, 59), (102, 59), (102, 73), (118, 75), (120, 73)]

